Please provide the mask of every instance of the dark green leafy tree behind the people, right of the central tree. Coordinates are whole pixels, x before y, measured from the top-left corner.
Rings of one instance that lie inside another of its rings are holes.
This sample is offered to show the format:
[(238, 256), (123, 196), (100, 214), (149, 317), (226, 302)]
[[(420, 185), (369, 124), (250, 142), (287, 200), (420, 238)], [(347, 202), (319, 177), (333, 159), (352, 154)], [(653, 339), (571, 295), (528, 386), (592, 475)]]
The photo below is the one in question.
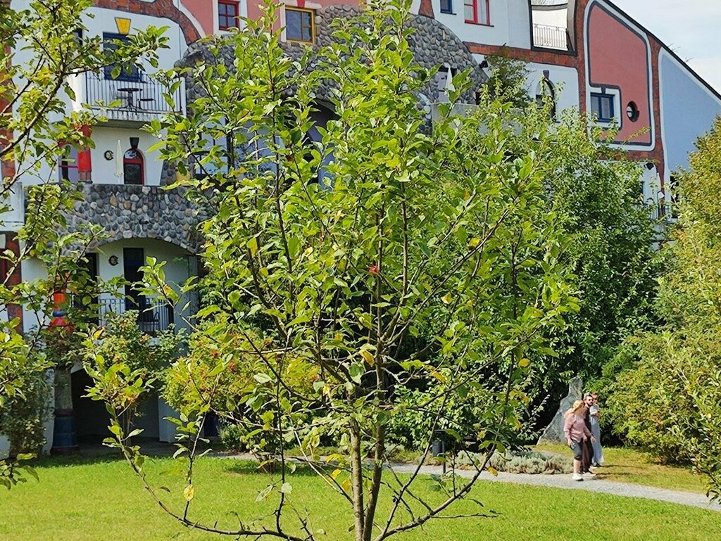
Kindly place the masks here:
[(611, 138), (600, 130), (589, 135), (575, 112), (562, 113), (550, 129), (547, 179), (554, 205), (566, 218), (571, 241), (565, 258), (578, 277), (581, 303), (557, 336), (560, 355), (547, 365), (549, 380), (580, 375), (603, 391), (623, 340), (658, 321), (652, 308), (663, 268), (654, 250), (658, 233), (642, 201), (642, 164), (609, 146)]

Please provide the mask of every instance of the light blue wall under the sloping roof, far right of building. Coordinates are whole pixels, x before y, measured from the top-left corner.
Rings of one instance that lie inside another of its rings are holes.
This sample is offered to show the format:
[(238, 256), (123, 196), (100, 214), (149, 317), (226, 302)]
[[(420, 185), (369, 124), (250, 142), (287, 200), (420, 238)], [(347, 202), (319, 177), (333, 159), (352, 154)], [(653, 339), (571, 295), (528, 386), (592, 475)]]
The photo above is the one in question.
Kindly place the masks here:
[(707, 133), (717, 115), (721, 115), (721, 100), (664, 52), (660, 58), (660, 78), (668, 178), (672, 171), (689, 166), (689, 153), (696, 150), (696, 139)]

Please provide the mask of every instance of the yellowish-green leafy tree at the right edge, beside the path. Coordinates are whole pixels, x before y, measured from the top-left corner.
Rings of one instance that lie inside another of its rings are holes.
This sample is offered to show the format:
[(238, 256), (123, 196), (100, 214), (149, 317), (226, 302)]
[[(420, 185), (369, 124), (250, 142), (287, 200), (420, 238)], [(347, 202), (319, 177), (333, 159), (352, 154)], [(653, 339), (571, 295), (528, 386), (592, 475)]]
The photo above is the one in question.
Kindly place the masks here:
[(678, 227), (665, 248), (658, 314), (665, 324), (629, 344), (611, 413), (629, 440), (665, 460), (689, 461), (721, 495), (721, 121), (697, 142), (680, 175)]

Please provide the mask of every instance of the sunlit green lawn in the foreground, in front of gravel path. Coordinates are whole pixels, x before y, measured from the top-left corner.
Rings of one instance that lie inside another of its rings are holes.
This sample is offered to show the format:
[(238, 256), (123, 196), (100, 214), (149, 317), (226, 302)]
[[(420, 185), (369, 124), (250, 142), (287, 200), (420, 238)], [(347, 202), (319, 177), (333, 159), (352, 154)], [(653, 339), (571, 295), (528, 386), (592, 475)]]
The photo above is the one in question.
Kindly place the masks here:
[[(182, 506), (182, 479), (163, 475), (172, 467), (169, 458), (151, 458), (146, 468), (153, 482), (165, 484), (165, 497), (175, 509)], [(183, 529), (151, 501), (124, 462), (109, 457), (41, 460), (40, 483), (31, 481), (2, 491), (0, 539), (4, 541), (124, 541), (218, 540), (214, 535)], [(255, 503), (267, 485), (267, 476), (255, 465), (229, 459), (201, 459), (197, 464), (196, 519), (218, 519), (231, 527), (237, 512), (244, 521), (262, 517), (272, 501)], [(323, 481), (307, 472), (289, 479), (291, 501), (307, 509), (312, 524), (325, 529), (320, 540), (350, 539), (348, 504), (329, 491)], [(430, 480), (419, 481), (417, 493), (438, 501)], [(425, 529), (397, 537), (399, 541), (555, 541), (575, 539), (582, 528), (595, 541), (704, 541), (717, 540), (721, 513), (657, 501), (621, 498), (557, 488), (479, 483), (474, 498), (495, 518), (470, 518), (430, 522)], [(387, 504), (387, 502), (386, 502)], [(387, 512), (387, 505), (381, 508)], [(468, 513), (477, 508), (463, 502), (454, 509)], [(305, 511), (303, 511), (305, 512)], [(585, 524), (581, 526), (582, 524)], [(669, 525), (673, 524), (673, 532)]]

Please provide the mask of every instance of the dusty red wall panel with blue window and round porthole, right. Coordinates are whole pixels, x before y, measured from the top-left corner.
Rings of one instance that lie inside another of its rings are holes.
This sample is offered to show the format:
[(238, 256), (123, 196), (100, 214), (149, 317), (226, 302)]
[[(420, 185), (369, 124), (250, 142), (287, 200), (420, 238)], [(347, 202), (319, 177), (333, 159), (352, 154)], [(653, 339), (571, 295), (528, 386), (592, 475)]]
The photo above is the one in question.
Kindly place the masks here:
[[(621, 122), (617, 140), (653, 144), (650, 133), (653, 122), (651, 69), (646, 40), (606, 9), (594, 4), (588, 14), (587, 54), (589, 86), (608, 86), (621, 91), (621, 110), (616, 112)], [(626, 115), (629, 102), (634, 102), (639, 109), (636, 122)], [(646, 131), (632, 137), (640, 130)]]

